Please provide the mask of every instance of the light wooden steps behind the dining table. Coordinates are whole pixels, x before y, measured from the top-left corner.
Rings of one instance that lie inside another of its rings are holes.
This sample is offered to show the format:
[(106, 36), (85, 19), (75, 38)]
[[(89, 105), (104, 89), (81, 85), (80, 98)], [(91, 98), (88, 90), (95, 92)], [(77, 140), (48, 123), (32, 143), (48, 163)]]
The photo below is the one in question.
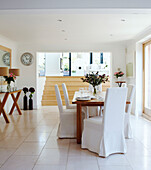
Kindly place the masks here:
[[(69, 99), (70, 101), (72, 101), (75, 91), (79, 91), (79, 88), (89, 87), (89, 84), (82, 82), (80, 78), (82, 77), (79, 77), (79, 76), (76, 76), (76, 77), (75, 76), (74, 77), (72, 76), (68, 76), (68, 77), (47, 76), (44, 91), (43, 91), (43, 96), (42, 96), (42, 106), (56, 106), (57, 105), (56, 94), (55, 94), (55, 84), (58, 84), (63, 105), (65, 105), (65, 100), (64, 100), (63, 90), (62, 90), (62, 83), (66, 84), (68, 94), (69, 94)], [(110, 87), (109, 82), (105, 84), (103, 83), (102, 91), (105, 91), (106, 88), (108, 87)]]

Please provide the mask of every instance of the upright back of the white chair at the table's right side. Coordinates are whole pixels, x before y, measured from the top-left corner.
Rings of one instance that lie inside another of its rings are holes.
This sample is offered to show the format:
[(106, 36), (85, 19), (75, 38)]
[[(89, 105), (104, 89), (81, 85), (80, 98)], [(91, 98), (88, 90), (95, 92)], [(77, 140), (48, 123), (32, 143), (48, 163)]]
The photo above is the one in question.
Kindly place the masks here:
[(130, 114), (132, 108), (132, 101), (135, 93), (135, 86), (132, 84), (128, 85), (128, 92), (127, 92), (127, 100), (130, 101), (130, 104), (126, 105), (126, 113)]

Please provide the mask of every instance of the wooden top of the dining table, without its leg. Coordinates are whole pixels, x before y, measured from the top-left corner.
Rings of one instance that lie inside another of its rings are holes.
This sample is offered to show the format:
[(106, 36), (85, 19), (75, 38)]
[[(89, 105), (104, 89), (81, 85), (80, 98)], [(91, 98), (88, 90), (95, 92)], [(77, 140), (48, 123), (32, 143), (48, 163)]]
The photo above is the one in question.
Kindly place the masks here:
[[(99, 92), (98, 93), (98, 96), (100, 97), (99, 99), (76, 100), (76, 98), (80, 96), (80, 93), (76, 91), (72, 100), (72, 104), (81, 104), (83, 106), (98, 106), (98, 105), (104, 106), (105, 94), (106, 92)], [(130, 104), (130, 101), (126, 101), (126, 104)]]

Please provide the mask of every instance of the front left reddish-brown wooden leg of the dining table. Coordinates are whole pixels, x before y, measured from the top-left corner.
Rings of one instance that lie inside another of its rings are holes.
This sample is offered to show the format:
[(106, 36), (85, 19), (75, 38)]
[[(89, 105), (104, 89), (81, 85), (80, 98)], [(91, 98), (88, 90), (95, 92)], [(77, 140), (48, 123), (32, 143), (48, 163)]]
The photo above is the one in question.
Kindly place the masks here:
[(82, 129), (81, 129), (81, 104), (77, 104), (77, 143), (81, 143)]

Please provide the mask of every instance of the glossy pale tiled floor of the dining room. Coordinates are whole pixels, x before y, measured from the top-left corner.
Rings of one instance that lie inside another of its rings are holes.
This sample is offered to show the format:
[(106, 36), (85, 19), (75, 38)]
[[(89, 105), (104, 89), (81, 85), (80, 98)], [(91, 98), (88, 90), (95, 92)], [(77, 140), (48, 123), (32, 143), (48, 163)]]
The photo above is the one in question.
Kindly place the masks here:
[(57, 107), (16, 112), (10, 124), (0, 116), (0, 169), (3, 170), (150, 170), (151, 122), (131, 117), (134, 138), (127, 153), (100, 158), (75, 139), (57, 139)]

